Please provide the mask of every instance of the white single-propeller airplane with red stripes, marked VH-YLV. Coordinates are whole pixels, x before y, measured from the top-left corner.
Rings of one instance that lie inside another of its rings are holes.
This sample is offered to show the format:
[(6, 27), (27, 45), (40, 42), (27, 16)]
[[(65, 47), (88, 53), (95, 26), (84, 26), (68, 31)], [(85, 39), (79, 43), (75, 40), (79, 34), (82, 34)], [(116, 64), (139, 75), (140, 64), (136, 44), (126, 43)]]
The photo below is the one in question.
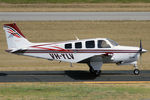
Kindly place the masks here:
[(89, 71), (98, 76), (103, 63), (117, 65), (133, 65), (134, 74), (140, 70), (137, 66), (138, 58), (147, 50), (140, 47), (121, 46), (108, 38), (94, 38), (72, 40), (65, 42), (31, 43), (15, 23), (4, 24), (9, 53), (58, 60), (70, 63), (85, 63)]

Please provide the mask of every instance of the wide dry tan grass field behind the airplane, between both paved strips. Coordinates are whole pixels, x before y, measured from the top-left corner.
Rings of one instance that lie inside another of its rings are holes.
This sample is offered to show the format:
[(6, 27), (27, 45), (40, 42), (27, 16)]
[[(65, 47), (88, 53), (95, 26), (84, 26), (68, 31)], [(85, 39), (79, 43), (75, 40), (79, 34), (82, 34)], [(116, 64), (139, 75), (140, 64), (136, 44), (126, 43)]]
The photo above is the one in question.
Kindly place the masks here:
[[(4, 23), (1, 22), (0, 26)], [(73, 40), (76, 34), (80, 39), (106, 37), (117, 41), (120, 45), (139, 46), (142, 39), (143, 48), (150, 51), (150, 21), (47, 21), (47, 22), (16, 22), (24, 35), (32, 42), (50, 42)], [(41, 36), (42, 34), (42, 36)], [(44, 59), (13, 55), (7, 49), (5, 33), (0, 29), (0, 70), (88, 70), (86, 64), (58, 63)], [(143, 54), (143, 67), (150, 69), (150, 53)], [(116, 67), (106, 64), (103, 70), (132, 70), (131, 66)]]

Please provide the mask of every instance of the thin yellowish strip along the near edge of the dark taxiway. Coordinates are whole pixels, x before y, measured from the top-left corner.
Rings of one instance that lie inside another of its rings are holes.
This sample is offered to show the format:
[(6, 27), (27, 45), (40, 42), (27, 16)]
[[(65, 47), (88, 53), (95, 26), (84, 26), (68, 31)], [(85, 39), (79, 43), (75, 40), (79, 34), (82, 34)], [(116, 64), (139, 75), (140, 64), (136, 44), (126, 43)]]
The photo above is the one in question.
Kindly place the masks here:
[(48, 84), (150, 84), (150, 81), (82, 81), (82, 82), (0, 82), (0, 84), (34, 84), (34, 83), (48, 83)]

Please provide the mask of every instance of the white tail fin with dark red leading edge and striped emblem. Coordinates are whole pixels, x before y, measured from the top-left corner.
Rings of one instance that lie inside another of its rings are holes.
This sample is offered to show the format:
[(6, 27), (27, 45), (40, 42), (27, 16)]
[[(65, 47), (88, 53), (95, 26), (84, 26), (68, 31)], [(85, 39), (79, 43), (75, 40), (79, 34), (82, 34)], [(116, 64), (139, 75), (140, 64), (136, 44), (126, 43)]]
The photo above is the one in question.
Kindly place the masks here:
[(20, 49), (29, 46), (31, 43), (21, 33), (16, 23), (4, 24), (8, 49)]

